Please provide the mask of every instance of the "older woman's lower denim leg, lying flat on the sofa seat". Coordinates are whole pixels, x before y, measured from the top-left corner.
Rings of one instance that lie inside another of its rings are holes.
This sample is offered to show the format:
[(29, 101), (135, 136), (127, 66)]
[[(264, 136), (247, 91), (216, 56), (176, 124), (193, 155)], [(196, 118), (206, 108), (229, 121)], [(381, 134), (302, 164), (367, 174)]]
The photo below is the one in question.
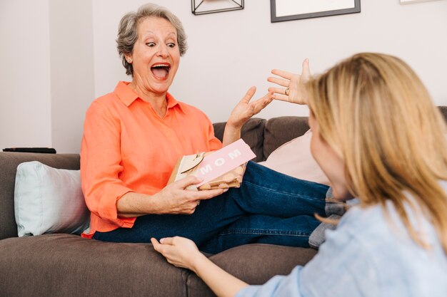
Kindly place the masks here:
[(320, 224), (315, 217), (290, 218), (248, 214), (200, 246), (201, 251), (219, 253), (242, 244), (278, 244), (308, 247), (308, 238)]

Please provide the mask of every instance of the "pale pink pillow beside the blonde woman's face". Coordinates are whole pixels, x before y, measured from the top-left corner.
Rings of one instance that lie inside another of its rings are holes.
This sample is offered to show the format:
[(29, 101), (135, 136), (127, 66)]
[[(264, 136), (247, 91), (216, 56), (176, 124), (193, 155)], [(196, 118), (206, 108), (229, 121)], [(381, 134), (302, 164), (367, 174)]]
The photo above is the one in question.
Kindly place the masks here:
[(312, 157), (311, 137), (312, 132), (308, 130), (304, 135), (278, 147), (266, 161), (259, 164), (291, 177), (329, 185), (328, 178)]

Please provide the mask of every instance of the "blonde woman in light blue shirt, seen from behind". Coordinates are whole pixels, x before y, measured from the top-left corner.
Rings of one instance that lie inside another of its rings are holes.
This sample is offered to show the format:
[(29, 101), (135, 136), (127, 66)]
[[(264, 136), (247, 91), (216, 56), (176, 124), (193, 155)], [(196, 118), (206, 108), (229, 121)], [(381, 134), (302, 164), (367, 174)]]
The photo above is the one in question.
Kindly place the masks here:
[(153, 240), (156, 251), (218, 296), (447, 296), (446, 125), (421, 80), (378, 53), (357, 54), (305, 85), (273, 73), (294, 90), (276, 88), (277, 99), (311, 110), (311, 151), (334, 197), (358, 204), (306, 266), (263, 286), (226, 273), (189, 239)]

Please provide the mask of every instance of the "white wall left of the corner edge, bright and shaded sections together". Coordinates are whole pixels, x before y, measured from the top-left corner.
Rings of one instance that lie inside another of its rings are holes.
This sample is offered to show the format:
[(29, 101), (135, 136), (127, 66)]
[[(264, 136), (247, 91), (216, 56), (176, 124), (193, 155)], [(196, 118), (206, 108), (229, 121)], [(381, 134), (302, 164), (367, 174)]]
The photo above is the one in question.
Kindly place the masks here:
[(0, 148), (79, 152), (94, 98), (91, 0), (1, 0)]

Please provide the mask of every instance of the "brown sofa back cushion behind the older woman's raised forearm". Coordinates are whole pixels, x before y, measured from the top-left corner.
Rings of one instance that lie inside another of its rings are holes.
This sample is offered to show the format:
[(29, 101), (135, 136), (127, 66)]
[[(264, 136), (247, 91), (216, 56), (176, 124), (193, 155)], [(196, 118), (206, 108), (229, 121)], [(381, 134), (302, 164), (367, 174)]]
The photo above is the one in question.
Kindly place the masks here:
[[(215, 123), (214, 125), (214, 135), (216, 135), (219, 140), (224, 138), (224, 130), (226, 123)], [(251, 118), (243, 125), (241, 130), (241, 136), (243, 141), (250, 145), (251, 150), (256, 155), (253, 159), (254, 162), (261, 162), (264, 159), (263, 156), (263, 138), (264, 138), (264, 126), (266, 125), (266, 120), (260, 118)]]

